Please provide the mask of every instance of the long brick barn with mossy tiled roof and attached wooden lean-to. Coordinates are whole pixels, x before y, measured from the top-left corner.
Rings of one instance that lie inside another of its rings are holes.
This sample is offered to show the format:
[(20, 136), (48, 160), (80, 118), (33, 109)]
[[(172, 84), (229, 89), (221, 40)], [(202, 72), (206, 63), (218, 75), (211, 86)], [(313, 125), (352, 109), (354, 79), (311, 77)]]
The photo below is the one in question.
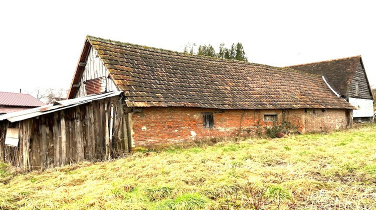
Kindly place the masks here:
[(0, 157), (34, 169), (284, 122), (341, 129), (353, 108), (318, 75), (87, 36), (67, 100), (0, 118)]

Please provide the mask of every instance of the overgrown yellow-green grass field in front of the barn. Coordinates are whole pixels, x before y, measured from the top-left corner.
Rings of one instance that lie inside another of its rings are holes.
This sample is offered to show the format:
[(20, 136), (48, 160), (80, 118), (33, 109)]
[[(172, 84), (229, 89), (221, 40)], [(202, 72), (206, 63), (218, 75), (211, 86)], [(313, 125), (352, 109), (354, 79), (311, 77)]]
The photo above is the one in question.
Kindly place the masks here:
[(0, 209), (376, 209), (376, 125), (15, 173)]

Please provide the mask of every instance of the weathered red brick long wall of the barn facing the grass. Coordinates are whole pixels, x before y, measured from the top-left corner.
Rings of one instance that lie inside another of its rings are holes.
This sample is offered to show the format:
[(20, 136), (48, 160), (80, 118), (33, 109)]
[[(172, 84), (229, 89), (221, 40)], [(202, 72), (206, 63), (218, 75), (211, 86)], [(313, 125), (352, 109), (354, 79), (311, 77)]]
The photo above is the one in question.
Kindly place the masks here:
[[(282, 121), (282, 109), (221, 110), (191, 107), (139, 108), (131, 115), (132, 147), (157, 147), (203, 138), (256, 135), (263, 127), (272, 126), (264, 121), (265, 114), (277, 114)], [(315, 110), (315, 113), (313, 113)], [(213, 113), (214, 127), (204, 128), (203, 113)], [(300, 131), (321, 131), (345, 127), (345, 110), (287, 109), (285, 120)]]

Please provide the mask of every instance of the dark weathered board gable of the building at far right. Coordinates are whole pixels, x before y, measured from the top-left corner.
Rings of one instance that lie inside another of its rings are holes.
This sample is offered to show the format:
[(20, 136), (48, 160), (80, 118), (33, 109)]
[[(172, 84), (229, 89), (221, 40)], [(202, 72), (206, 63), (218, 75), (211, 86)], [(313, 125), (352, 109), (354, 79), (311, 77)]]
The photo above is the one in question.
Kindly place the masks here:
[[(356, 82), (359, 83), (359, 95), (355, 94)], [(346, 98), (355, 97), (355, 98), (372, 99), (372, 94), (369, 89), (367, 77), (365, 75), (365, 70), (360, 61), (357, 64), (356, 71), (348, 86), (345, 97)]]

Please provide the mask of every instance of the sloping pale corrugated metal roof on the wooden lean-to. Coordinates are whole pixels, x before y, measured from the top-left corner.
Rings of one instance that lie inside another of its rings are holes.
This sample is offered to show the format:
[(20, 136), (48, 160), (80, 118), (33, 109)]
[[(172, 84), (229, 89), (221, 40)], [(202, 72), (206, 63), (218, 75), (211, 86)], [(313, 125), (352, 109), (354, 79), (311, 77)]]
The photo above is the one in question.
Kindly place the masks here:
[(107, 97), (117, 96), (117, 95), (120, 95), (122, 92), (123, 91), (111, 91), (111, 92), (88, 95), (88, 96), (83, 96), (83, 97), (78, 97), (78, 98), (73, 98), (73, 99), (68, 99), (68, 100), (59, 100), (55, 102), (54, 104), (48, 104), (48, 105), (41, 106), (41, 107), (30, 108), (27, 110), (0, 115), (0, 121), (7, 119), (11, 122), (15, 122), (15, 121), (20, 121), (24, 119), (29, 119), (29, 118), (36, 117), (39, 115), (43, 115), (43, 114), (51, 113), (54, 111), (59, 111), (62, 109), (88, 103), (93, 100), (99, 100), (99, 99), (103, 99)]

